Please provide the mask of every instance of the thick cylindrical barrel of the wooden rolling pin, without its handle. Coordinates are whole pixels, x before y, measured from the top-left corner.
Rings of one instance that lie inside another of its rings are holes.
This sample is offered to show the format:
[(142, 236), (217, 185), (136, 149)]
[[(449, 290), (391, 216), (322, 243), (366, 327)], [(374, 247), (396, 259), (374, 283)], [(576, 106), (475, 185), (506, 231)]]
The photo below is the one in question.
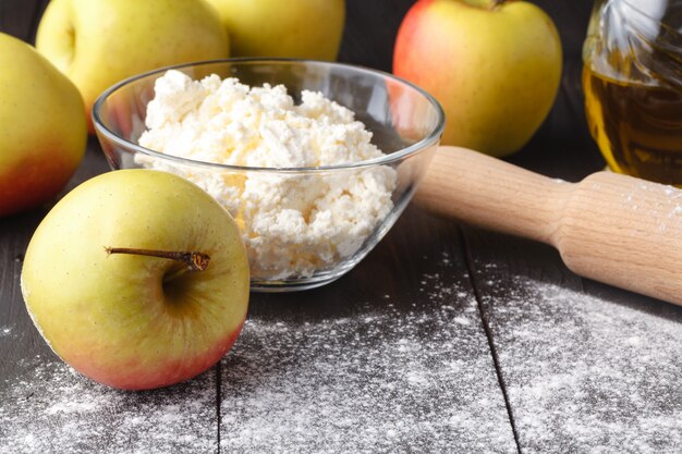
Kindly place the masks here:
[(553, 238), (590, 279), (682, 304), (682, 191), (613, 173), (575, 186)]

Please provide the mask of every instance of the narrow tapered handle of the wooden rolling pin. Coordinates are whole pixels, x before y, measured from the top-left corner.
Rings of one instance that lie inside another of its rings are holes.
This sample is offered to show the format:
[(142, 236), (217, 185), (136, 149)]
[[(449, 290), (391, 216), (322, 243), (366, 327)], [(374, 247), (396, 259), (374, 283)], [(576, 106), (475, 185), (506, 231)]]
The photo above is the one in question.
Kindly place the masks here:
[(442, 146), (413, 203), (460, 222), (553, 244), (570, 189), (477, 151)]

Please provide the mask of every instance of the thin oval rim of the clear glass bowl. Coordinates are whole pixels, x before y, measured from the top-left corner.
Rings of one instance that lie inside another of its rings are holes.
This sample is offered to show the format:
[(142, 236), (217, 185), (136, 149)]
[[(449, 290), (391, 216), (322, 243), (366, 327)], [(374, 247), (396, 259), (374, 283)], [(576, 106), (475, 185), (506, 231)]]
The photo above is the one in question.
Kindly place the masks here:
[[(438, 121), (436, 123), (436, 126), (429, 132), (429, 134), (426, 137), (410, 145), (409, 147), (401, 148), (391, 154), (387, 154), (377, 158), (365, 159), (363, 161), (349, 162), (349, 163), (343, 163), (343, 164), (317, 165), (317, 167), (294, 167), (294, 168), (268, 168), (268, 167), (223, 164), (223, 163), (218, 163), (218, 162), (198, 161), (194, 159), (182, 158), (182, 157), (174, 156), (174, 155), (167, 155), (160, 151), (155, 151), (153, 149), (143, 147), (138, 144), (135, 144), (131, 140), (127, 140), (117, 135), (111, 130), (109, 130), (101, 121), (100, 110), (105, 101), (109, 98), (110, 95), (112, 95), (114, 91), (122, 88), (123, 86), (130, 85), (141, 78), (145, 78), (154, 74), (165, 73), (169, 70), (179, 70), (179, 69), (185, 69), (185, 68), (192, 68), (192, 66), (203, 66), (203, 65), (219, 64), (219, 63), (287, 63), (287, 64), (315, 64), (315, 65), (321, 65), (321, 66), (343, 66), (343, 68), (349, 68), (354, 71), (358, 71), (360, 73), (372, 74), (373, 76), (377, 76), (377, 75), (383, 76), (399, 84), (409, 86), (415, 89), (419, 95), (424, 96), (426, 100), (431, 105), (434, 110), (436, 111)], [(421, 152), (422, 150), (427, 149), (429, 146), (434, 145), (435, 143), (437, 143), (440, 139), (440, 136), (442, 135), (444, 123), (446, 123), (444, 111), (442, 107), (440, 106), (440, 103), (438, 102), (438, 100), (436, 100), (434, 96), (428, 94), (426, 90), (424, 90), (419, 86), (413, 84), (412, 82), (406, 81), (402, 77), (399, 77), (394, 74), (387, 73), (381, 70), (375, 70), (375, 69), (362, 66), (358, 64), (328, 62), (328, 61), (320, 61), (320, 60), (307, 60), (307, 59), (287, 59), (287, 58), (229, 58), (229, 59), (204, 60), (204, 61), (173, 64), (173, 65), (158, 68), (151, 71), (147, 71), (147, 72), (124, 78), (123, 81), (107, 88), (97, 97), (95, 103), (93, 105), (90, 116), (93, 120), (93, 125), (95, 127), (95, 131), (98, 134), (103, 135), (107, 139), (115, 143), (120, 147), (129, 148), (129, 149), (134, 150), (135, 152), (139, 152), (139, 154), (153, 157), (153, 158), (168, 160), (171, 162), (180, 163), (183, 165), (192, 165), (192, 167), (203, 167), (203, 168), (222, 169), (222, 170), (231, 170), (231, 171), (281, 172), (281, 173), (326, 172), (326, 171), (341, 170), (341, 169), (357, 169), (357, 168), (365, 168), (365, 167), (370, 167), (370, 165), (382, 165), (382, 164), (389, 164), (395, 161), (400, 161), (403, 158), (411, 156), (411, 155), (416, 155)]]

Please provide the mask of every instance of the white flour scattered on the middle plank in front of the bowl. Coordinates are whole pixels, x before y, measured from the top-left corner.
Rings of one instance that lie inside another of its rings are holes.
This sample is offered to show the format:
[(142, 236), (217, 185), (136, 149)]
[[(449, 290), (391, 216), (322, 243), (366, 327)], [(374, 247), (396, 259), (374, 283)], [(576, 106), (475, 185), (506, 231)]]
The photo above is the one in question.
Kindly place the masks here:
[(223, 363), (221, 447), (516, 453), (476, 302), (435, 286), (426, 307), (249, 320)]

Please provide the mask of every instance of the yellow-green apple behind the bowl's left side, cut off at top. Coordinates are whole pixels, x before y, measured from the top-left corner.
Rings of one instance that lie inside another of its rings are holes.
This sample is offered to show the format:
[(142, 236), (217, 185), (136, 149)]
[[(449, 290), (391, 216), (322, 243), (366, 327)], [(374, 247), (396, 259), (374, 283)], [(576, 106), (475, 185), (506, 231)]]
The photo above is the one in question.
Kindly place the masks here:
[(230, 54), (220, 17), (204, 0), (52, 0), (36, 48), (78, 87), (88, 114), (126, 77)]

